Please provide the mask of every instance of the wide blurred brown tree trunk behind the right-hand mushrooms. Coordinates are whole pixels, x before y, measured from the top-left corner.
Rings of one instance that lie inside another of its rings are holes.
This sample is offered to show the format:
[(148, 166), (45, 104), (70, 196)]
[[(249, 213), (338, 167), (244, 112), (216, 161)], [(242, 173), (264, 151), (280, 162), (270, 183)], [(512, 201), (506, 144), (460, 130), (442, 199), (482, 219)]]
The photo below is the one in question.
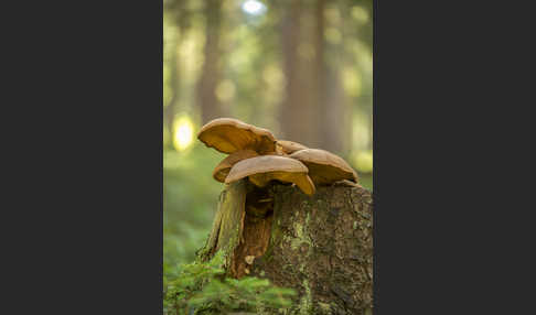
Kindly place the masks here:
[(287, 87), (280, 121), (288, 140), (345, 155), (350, 110), (340, 78), (342, 47), (330, 46), (324, 39), (328, 3), (297, 0), (283, 12), (281, 43)]

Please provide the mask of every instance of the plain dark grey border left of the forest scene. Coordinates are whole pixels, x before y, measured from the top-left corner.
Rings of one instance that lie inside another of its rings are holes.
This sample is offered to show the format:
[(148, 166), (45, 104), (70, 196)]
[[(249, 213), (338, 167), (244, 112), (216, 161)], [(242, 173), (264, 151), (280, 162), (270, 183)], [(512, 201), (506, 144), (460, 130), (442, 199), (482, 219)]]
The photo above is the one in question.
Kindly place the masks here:
[(163, 3), (21, 7), (0, 313), (162, 314)]

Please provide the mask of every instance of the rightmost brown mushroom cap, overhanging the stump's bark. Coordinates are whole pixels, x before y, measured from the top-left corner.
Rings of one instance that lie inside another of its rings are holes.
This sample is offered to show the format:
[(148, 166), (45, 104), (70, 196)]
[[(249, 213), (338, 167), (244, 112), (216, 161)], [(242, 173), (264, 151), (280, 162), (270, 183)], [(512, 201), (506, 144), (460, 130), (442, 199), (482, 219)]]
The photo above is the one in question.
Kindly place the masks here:
[(340, 156), (320, 149), (304, 149), (289, 155), (309, 169), (309, 176), (317, 185), (328, 185), (349, 180), (357, 183), (357, 173)]

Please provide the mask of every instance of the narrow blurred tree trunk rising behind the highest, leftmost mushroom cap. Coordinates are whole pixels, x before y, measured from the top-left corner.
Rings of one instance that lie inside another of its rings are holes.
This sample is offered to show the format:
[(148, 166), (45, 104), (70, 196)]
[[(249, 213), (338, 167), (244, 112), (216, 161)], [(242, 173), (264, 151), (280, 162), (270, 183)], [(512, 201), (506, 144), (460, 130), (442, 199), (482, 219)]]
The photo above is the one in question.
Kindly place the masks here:
[(216, 97), (216, 86), (219, 80), (219, 31), (222, 24), (222, 1), (205, 1), (205, 45), (204, 63), (201, 78), (197, 83), (197, 102), (201, 108), (202, 123), (226, 116)]

